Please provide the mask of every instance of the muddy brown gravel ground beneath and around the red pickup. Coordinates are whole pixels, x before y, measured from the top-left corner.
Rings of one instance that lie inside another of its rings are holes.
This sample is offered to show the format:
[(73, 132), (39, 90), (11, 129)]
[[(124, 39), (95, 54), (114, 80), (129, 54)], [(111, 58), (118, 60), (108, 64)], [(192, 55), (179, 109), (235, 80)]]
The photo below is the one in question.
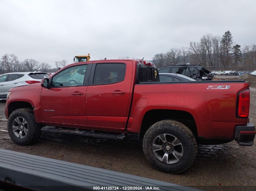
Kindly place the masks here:
[[(15, 145), (8, 136), (0, 102), (0, 148), (63, 161), (134, 174), (203, 190), (255, 190), (256, 144), (239, 146), (235, 141), (224, 145), (199, 145), (194, 165), (185, 173), (173, 175), (151, 167), (142, 150), (142, 142), (130, 135), (126, 141), (86, 138), (43, 132), (37, 143)], [(250, 121), (256, 124), (256, 89), (251, 89)], [(254, 143), (256, 139), (254, 139)], [(131, 185), (135, 186), (135, 185)]]

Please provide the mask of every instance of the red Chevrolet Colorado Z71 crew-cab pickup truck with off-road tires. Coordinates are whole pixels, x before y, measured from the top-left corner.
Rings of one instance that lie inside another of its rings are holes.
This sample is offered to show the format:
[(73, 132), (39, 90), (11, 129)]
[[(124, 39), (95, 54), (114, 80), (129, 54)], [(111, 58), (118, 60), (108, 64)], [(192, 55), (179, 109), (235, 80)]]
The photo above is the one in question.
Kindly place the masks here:
[(197, 144), (253, 145), (249, 85), (160, 82), (157, 68), (144, 60), (79, 62), (41, 84), (12, 88), (5, 115), (19, 145), (37, 141), (42, 131), (112, 139), (136, 133), (153, 166), (181, 173), (193, 164)]

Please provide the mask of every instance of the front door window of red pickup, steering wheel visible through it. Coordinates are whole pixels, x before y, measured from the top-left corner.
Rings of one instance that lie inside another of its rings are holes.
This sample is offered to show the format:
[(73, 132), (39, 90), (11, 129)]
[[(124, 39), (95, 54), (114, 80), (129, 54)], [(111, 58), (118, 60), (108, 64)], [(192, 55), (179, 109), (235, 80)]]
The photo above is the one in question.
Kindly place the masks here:
[(84, 84), (87, 65), (69, 67), (52, 78), (51, 87), (82, 86)]

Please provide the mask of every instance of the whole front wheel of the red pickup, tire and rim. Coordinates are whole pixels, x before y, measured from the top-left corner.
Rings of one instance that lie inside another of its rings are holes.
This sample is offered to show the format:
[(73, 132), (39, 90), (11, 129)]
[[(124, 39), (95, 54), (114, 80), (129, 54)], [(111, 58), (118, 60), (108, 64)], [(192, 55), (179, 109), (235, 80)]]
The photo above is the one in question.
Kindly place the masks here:
[(17, 109), (9, 116), (8, 134), (16, 144), (30, 145), (40, 138), (41, 132), (32, 109)]

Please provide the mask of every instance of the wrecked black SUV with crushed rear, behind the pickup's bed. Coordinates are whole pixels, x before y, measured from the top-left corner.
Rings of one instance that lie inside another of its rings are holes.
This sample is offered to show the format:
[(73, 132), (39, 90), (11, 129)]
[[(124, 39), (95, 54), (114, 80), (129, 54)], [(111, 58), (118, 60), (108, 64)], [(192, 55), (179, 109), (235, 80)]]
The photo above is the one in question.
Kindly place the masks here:
[(158, 69), (159, 73), (175, 73), (188, 76), (195, 80), (212, 80), (213, 73), (201, 65), (180, 64), (169, 65)]

